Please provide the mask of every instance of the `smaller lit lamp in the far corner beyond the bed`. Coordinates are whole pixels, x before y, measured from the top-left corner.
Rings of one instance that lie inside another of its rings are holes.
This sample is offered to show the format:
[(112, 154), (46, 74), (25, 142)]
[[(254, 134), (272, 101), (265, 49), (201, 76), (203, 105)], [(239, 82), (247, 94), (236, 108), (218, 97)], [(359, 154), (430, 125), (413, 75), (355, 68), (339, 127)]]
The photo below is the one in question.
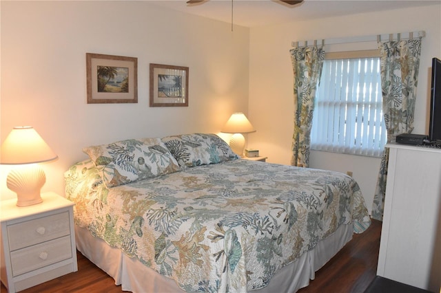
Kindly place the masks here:
[(236, 155), (243, 157), (243, 149), (245, 149), (245, 137), (242, 133), (250, 133), (256, 131), (245, 116), (244, 113), (233, 113), (232, 116), (225, 123), (220, 132), (234, 133), (229, 140), (229, 146)]

